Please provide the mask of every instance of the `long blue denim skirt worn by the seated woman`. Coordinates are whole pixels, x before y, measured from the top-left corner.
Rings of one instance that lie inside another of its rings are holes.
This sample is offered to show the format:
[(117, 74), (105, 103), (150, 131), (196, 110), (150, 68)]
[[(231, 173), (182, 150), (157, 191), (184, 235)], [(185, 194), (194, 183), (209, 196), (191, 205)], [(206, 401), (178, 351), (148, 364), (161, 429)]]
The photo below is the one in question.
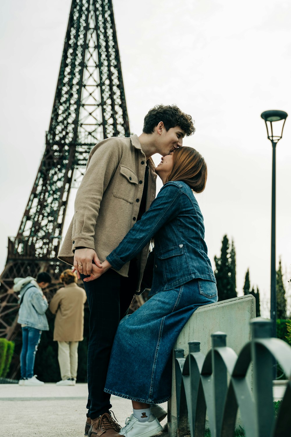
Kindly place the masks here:
[(171, 397), (172, 349), (201, 305), (217, 302), (215, 282), (193, 279), (157, 292), (118, 326), (104, 391), (148, 404)]

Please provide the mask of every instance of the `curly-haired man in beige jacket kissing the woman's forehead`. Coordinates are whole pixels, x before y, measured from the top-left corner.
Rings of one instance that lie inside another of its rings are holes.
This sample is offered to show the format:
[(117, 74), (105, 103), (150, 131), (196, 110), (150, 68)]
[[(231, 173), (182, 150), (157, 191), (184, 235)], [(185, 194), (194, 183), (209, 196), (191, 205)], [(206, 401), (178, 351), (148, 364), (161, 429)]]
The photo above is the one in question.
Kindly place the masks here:
[[(190, 115), (176, 105), (157, 105), (145, 116), (140, 136), (108, 138), (94, 146), (59, 259), (73, 265), (82, 279), (91, 274), (92, 263), (101, 265), (155, 198), (157, 175), (151, 156), (168, 155), (194, 132)], [(138, 258), (118, 272), (110, 269), (98, 281), (84, 282), (90, 309), (88, 436), (119, 435), (120, 427), (109, 413), (110, 395), (103, 388), (114, 335), (140, 291), (148, 250), (144, 247)], [(164, 413), (160, 409), (156, 415), (161, 418)]]

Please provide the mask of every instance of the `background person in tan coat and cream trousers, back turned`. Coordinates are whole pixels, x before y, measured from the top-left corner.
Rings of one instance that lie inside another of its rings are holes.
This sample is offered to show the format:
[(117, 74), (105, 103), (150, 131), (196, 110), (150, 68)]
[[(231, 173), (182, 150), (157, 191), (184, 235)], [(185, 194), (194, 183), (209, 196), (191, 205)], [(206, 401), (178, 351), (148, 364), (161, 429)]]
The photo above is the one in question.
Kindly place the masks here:
[(83, 340), (86, 293), (76, 284), (70, 269), (62, 272), (64, 284), (51, 299), (49, 309), (55, 317), (54, 341), (58, 342), (58, 364), (62, 380), (57, 385), (75, 385), (78, 369), (78, 345)]

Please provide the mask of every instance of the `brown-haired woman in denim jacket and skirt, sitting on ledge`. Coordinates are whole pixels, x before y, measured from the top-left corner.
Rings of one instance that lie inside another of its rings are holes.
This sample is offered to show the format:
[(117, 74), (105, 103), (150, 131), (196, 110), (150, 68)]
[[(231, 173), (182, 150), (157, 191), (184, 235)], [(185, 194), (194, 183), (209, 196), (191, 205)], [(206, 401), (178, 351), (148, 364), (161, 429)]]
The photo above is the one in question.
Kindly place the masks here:
[[(157, 198), (101, 267), (93, 266), (83, 279), (96, 279), (110, 267), (120, 270), (154, 239), (151, 298), (121, 320), (104, 389), (132, 400), (134, 413), (119, 431), (127, 437), (161, 431), (161, 407), (153, 404), (171, 396), (171, 352), (178, 334), (195, 309), (217, 302), (203, 216), (193, 194), (205, 188), (205, 160), (195, 149), (182, 147), (162, 157), (155, 171), (164, 184)], [(92, 421), (94, 430), (98, 420)]]

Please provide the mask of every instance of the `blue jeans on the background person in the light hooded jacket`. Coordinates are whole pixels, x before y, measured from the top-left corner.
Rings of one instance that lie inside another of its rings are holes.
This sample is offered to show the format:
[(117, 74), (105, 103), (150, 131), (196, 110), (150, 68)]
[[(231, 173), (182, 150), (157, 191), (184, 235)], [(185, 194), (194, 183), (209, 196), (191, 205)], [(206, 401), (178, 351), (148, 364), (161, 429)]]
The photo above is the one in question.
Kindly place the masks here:
[(22, 349), (20, 354), (21, 379), (29, 379), (33, 377), (35, 354), (38, 350), (38, 344), (41, 340), (41, 332), (39, 329), (31, 328), (31, 326), (23, 326), (22, 328)]

